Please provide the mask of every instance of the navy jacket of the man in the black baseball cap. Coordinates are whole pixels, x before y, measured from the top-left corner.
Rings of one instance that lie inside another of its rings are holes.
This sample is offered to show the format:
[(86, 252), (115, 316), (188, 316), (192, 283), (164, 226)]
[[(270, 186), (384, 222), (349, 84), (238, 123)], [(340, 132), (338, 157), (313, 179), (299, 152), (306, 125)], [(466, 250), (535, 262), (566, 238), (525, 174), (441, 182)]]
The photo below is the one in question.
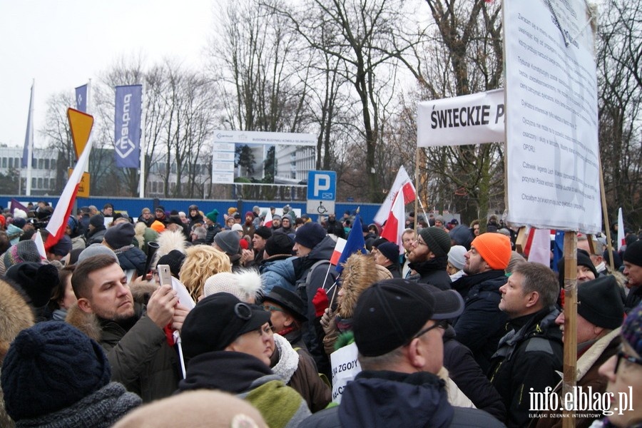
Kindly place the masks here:
[(348, 383), (337, 407), (306, 419), (301, 428), (319, 427), (503, 427), (478, 409), (453, 407), (444, 381), (434, 374), (364, 371)]

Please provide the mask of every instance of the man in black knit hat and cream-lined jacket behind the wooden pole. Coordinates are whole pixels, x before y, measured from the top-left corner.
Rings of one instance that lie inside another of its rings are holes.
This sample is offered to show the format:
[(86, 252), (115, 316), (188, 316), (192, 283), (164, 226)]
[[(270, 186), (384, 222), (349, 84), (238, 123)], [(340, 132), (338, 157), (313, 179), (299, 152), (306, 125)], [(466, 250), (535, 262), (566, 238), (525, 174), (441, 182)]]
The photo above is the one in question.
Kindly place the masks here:
[[(602, 395), (606, 392), (606, 379), (598, 373), (604, 362), (616, 355), (621, 346), (620, 326), (624, 317), (624, 305), (616, 279), (612, 275), (601, 276), (588, 281), (577, 289), (577, 377), (576, 384), (582, 391), (588, 392), (591, 387), (593, 394)], [(564, 335), (564, 312), (555, 320)], [(554, 393), (562, 401), (562, 382), (555, 387)], [(588, 406), (588, 403), (586, 404)], [(601, 416), (601, 412), (589, 412), (588, 409), (578, 409), (576, 427), (590, 427), (593, 419)], [(589, 416), (592, 413), (592, 417)], [(559, 409), (551, 409), (538, 416), (537, 427), (554, 427), (561, 424)]]

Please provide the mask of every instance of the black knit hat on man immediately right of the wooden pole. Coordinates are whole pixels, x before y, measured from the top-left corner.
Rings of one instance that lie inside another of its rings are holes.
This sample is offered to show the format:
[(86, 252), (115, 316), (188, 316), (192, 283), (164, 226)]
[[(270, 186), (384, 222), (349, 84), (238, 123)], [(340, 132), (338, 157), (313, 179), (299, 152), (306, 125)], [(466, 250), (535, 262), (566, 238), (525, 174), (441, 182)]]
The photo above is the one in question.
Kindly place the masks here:
[(577, 287), (577, 313), (598, 327), (615, 330), (622, 325), (624, 305), (613, 275), (586, 281)]

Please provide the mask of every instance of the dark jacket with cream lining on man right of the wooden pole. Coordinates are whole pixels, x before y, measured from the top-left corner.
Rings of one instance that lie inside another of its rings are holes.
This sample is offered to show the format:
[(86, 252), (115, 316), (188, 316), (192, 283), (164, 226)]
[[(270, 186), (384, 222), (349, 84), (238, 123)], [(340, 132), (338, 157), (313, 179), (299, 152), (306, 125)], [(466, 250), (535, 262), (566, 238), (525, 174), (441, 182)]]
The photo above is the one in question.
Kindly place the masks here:
[[(616, 330), (611, 331), (608, 335), (604, 335), (597, 342), (593, 343), (591, 347), (588, 348), (577, 359), (576, 363), (576, 384), (578, 387), (582, 388), (583, 392), (588, 392), (588, 387), (591, 387), (593, 394), (603, 394), (606, 392), (606, 384), (608, 379), (598, 374), (598, 370), (601, 365), (603, 365), (606, 360), (616, 355), (618, 348), (622, 342), (620, 337), (621, 328), (616, 328)], [(562, 382), (557, 384), (554, 393), (558, 394), (559, 402), (563, 402), (561, 397)], [(594, 408), (594, 407), (593, 407)], [(561, 427), (562, 419), (556, 417), (555, 414), (561, 413), (559, 410), (550, 411), (550, 412), (541, 412), (537, 418), (531, 419), (531, 427), (537, 428), (549, 428), (549, 427)], [(579, 409), (577, 413), (582, 414), (591, 414), (591, 412), (585, 411), (584, 409)], [(599, 419), (601, 417), (601, 412), (596, 411), (592, 412), (593, 417), (578, 417), (576, 414), (575, 417), (575, 426), (578, 428), (588, 428), (591, 426), (593, 419)]]

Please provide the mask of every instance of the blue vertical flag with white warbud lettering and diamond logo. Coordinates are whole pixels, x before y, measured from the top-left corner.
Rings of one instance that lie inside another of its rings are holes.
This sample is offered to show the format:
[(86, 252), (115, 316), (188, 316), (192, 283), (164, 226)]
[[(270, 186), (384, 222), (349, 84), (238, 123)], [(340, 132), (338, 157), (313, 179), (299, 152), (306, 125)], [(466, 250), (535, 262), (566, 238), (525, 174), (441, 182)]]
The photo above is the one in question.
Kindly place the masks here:
[(141, 158), (143, 86), (116, 86), (114, 158), (118, 168), (138, 168)]

